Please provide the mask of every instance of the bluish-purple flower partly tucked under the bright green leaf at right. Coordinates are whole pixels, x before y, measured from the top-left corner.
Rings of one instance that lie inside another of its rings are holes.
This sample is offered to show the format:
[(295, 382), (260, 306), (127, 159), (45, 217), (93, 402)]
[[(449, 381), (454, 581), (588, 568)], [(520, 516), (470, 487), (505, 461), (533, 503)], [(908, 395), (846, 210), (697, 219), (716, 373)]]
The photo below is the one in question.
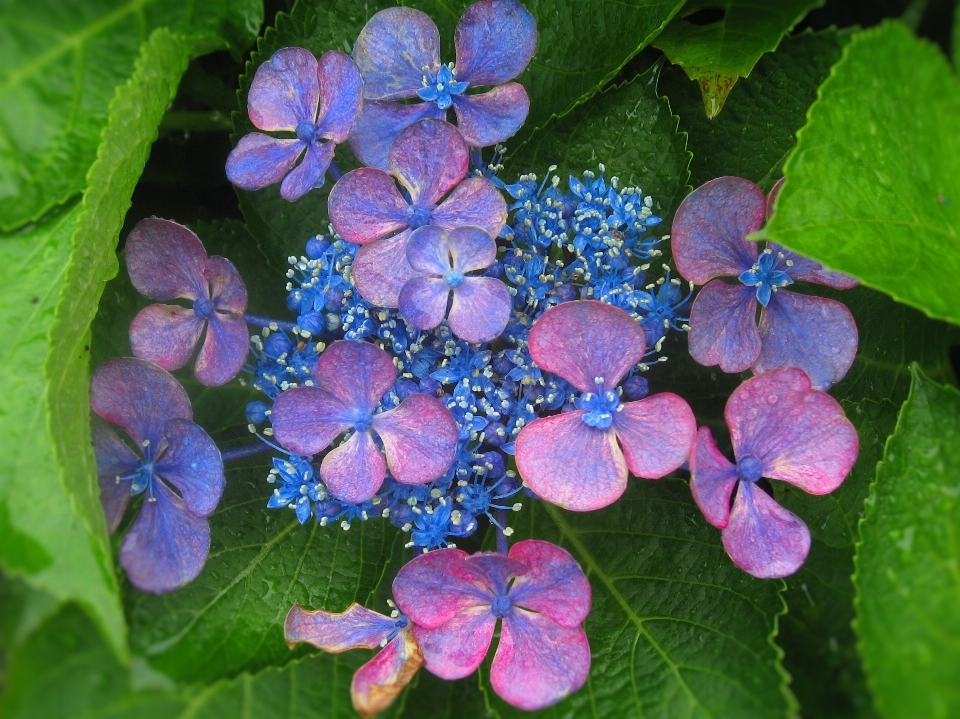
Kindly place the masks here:
[[(674, 261), (686, 279), (705, 285), (690, 309), (690, 354), (724, 372), (799, 367), (814, 387), (827, 389), (843, 379), (857, 353), (853, 315), (835, 300), (783, 288), (801, 281), (848, 289), (857, 282), (772, 243), (758, 253), (757, 243), (745, 239), (763, 225), (778, 190), (779, 184), (768, 203), (752, 182), (721, 177), (677, 210)], [(723, 276), (740, 284), (715, 279)]]

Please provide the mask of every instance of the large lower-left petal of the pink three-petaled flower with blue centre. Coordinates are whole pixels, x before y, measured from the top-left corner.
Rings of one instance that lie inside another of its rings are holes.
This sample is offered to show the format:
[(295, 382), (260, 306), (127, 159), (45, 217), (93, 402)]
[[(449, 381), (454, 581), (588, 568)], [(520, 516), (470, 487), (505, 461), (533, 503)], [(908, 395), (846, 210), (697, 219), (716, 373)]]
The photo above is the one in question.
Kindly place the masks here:
[[(564, 305), (558, 305), (563, 307)], [(609, 430), (574, 410), (535, 419), (517, 435), (517, 470), (540, 499), (575, 512), (613, 504), (627, 488), (627, 463)]]

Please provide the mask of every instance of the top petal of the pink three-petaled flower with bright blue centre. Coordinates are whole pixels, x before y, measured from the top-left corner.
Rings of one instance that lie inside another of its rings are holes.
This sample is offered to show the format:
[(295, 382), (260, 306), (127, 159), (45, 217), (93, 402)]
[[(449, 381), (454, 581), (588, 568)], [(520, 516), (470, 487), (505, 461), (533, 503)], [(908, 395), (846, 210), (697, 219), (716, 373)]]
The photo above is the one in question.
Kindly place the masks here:
[(645, 351), (640, 324), (595, 300), (551, 307), (530, 329), (533, 361), (581, 392), (596, 392), (597, 377), (603, 377), (606, 389), (614, 389)]

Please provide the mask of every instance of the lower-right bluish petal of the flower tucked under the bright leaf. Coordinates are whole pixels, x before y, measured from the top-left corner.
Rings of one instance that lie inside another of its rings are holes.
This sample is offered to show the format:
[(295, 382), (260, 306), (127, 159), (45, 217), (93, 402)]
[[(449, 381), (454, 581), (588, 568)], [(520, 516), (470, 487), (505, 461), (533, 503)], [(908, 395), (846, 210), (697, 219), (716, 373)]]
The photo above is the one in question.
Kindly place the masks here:
[(817, 389), (844, 378), (857, 356), (857, 323), (847, 306), (780, 290), (760, 314), (762, 349), (754, 372), (799, 367)]

